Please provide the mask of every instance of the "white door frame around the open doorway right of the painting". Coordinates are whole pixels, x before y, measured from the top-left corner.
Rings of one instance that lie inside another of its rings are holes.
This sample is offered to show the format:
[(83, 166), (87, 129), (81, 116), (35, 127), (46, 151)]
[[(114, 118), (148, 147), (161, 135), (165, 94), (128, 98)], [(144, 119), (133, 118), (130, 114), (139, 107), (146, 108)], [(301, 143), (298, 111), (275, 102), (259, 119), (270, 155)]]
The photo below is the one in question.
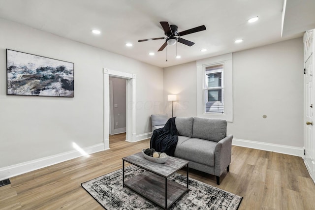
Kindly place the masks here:
[(134, 142), (136, 136), (136, 75), (104, 68), (104, 117), (103, 141), (105, 150), (109, 149), (109, 77), (126, 79), (126, 141)]

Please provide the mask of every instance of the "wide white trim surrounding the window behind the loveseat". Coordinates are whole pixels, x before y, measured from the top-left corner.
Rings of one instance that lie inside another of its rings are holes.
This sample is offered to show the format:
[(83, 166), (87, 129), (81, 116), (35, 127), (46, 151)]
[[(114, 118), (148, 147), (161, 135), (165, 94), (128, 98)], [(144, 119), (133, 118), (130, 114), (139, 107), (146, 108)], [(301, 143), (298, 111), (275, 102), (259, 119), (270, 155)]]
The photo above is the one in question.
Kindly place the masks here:
[[(205, 72), (204, 67), (224, 63), (224, 113), (205, 113)], [(223, 119), (233, 121), (233, 62), (232, 53), (208, 59), (197, 60), (197, 116), (201, 118)]]

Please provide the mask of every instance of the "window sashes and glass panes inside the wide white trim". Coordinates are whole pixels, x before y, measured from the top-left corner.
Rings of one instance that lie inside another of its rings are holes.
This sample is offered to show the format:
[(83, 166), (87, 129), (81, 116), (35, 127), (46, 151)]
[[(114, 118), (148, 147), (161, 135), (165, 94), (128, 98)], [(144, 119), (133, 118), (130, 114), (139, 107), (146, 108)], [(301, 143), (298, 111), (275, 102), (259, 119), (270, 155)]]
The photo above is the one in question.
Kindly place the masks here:
[(205, 66), (205, 113), (224, 113), (224, 64)]

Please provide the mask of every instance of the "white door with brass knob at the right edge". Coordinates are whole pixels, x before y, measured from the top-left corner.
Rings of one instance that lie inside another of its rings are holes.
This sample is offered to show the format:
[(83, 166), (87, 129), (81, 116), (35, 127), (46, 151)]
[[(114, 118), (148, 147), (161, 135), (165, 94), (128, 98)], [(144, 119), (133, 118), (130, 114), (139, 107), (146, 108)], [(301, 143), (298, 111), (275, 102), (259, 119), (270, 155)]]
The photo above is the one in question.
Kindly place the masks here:
[(306, 33), (304, 36), (304, 150), (305, 165), (308, 168), (310, 175), (315, 180), (315, 54), (312, 52), (313, 42), (312, 33)]

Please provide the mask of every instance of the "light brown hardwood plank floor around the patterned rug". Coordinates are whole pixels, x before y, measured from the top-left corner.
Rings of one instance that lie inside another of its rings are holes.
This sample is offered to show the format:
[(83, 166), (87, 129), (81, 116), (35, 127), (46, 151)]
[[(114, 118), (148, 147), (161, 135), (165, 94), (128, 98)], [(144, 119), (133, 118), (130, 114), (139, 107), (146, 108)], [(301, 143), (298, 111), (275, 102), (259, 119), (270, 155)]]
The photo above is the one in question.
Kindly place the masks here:
[[(149, 148), (149, 139), (129, 143), (124, 138), (112, 136), (110, 150), (11, 178), (0, 187), (0, 210), (103, 209), (81, 183), (122, 168), (122, 157)], [(243, 196), (239, 210), (315, 210), (315, 184), (301, 157), (233, 146), (230, 172), (223, 173), (220, 185), (214, 176), (192, 169), (189, 178)]]

